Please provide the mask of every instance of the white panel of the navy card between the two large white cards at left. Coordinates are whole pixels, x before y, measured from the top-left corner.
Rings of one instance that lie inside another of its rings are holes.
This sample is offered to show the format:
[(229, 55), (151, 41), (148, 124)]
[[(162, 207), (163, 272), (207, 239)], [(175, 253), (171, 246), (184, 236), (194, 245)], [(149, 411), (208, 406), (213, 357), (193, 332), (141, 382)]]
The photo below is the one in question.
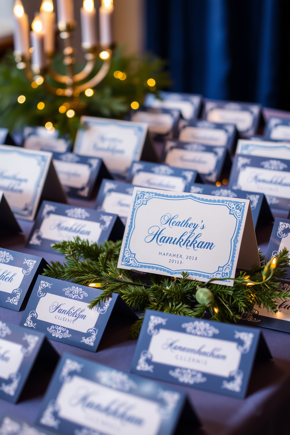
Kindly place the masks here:
[(80, 189), (86, 186), (90, 178), (90, 166), (83, 163), (68, 163), (53, 160), (61, 184)]

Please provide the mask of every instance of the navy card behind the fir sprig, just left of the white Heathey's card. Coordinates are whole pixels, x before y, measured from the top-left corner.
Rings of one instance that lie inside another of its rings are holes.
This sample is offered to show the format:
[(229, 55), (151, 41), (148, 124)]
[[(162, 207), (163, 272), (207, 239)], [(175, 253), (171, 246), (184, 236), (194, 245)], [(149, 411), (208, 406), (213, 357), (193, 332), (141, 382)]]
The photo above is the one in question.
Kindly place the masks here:
[(55, 254), (51, 245), (62, 240), (79, 236), (91, 243), (102, 243), (122, 238), (123, 232), (117, 214), (43, 201), (25, 246)]

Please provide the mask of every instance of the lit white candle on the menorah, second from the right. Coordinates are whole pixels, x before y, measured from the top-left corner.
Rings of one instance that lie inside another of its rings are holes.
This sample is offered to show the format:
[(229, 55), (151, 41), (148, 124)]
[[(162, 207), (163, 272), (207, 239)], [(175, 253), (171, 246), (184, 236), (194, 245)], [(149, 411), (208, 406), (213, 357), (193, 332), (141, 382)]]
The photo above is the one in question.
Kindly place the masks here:
[(97, 45), (96, 9), (93, 0), (83, 0), (80, 8), (80, 26), (82, 32), (82, 47), (87, 49)]

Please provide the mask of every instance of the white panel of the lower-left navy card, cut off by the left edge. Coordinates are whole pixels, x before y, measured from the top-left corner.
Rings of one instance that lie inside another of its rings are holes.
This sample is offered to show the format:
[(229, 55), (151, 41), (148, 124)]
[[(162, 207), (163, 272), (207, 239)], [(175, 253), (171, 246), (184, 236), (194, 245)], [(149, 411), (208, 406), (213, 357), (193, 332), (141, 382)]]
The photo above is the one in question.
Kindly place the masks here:
[(8, 379), (17, 373), (24, 358), (23, 346), (0, 338), (0, 377)]

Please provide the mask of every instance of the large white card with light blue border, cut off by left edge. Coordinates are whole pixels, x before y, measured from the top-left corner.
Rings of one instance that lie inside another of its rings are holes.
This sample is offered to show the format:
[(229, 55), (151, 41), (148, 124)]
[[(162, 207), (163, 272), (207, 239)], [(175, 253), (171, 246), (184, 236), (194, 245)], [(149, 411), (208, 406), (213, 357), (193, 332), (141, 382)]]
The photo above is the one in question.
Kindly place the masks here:
[(42, 199), (67, 202), (52, 154), (0, 145), (0, 190), (16, 218), (33, 221)]

